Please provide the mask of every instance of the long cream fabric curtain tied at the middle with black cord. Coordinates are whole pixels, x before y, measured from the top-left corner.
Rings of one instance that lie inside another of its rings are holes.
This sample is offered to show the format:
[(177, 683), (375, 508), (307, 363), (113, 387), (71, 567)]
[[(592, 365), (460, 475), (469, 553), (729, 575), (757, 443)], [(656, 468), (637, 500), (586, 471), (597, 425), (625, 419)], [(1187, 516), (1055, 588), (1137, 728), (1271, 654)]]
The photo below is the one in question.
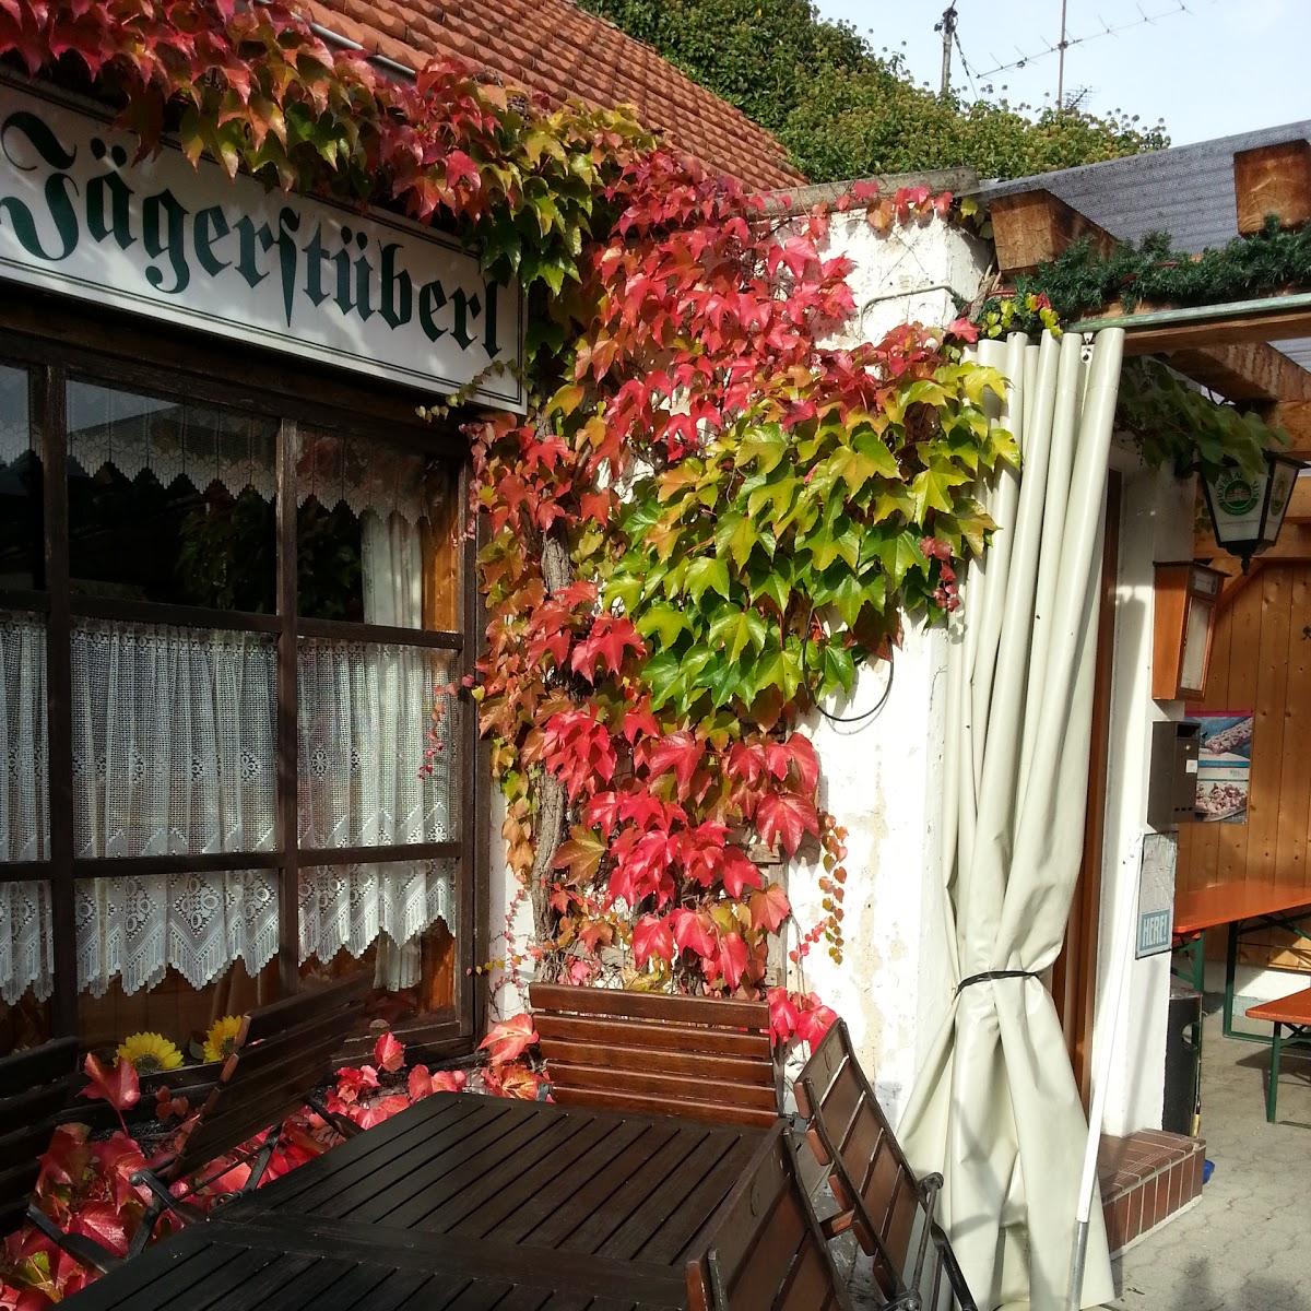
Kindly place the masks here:
[[(1042, 982), (1083, 852), (1106, 458), (1124, 333), (982, 342), (1021, 472), (962, 586), (949, 652), (941, 909), (957, 987), (901, 1125), (945, 1176), (943, 1221), (981, 1307), (1065, 1307), (1087, 1121)], [(1113, 1297), (1093, 1206), (1083, 1306)]]

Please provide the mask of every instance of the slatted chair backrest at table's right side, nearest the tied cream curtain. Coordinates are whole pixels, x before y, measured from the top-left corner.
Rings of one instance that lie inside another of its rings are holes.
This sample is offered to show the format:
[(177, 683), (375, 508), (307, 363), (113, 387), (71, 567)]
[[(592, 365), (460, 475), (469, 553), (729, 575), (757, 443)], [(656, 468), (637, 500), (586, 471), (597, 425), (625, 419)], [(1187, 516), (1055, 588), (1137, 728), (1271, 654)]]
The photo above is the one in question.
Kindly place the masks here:
[(793, 1086), (806, 1142), (829, 1173), (839, 1214), (830, 1234), (853, 1228), (890, 1302), (918, 1294), (926, 1311), (977, 1311), (950, 1243), (933, 1217), (940, 1175), (919, 1179), (884, 1116), (838, 1020)]

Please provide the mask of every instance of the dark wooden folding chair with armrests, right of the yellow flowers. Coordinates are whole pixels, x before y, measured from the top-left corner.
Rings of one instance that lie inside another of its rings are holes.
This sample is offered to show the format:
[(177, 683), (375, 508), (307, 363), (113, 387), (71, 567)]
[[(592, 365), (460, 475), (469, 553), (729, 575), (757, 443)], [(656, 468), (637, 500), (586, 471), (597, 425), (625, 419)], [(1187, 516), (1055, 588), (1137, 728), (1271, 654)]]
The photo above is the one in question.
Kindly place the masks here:
[[(315, 1089), (330, 1078), (333, 1054), (363, 1024), (368, 977), (363, 973), (313, 992), (299, 992), (260, 1007), (245, 1016), (232, 1055), (219, 1082), (199, 1112), (187, 1124), (172, 1156), (138, 1171), (132, 1183), (146, 1184), (153, 1194), (142, 1227), (132, 1240), (132, 1255), (149, 1240), (155, 1221), (170, 1210), (184, 1223), (205, 1219), (205, 1211), (187, 1198), (232, 1168), (231, 1154), (245, 1147), (237, 1163), (249, 1160), (250, 1175), (241, 1193), (260, 1186), (282, 1134), (282, 1122), (300, 1106), (312, 1106), (342, 1137), (359, 1133), (345, 1116), (336, 1116)], [(180, 1196), (172, 1186), (203, 1171), (219, 1156), (228, 1164), (199, 1179)]]

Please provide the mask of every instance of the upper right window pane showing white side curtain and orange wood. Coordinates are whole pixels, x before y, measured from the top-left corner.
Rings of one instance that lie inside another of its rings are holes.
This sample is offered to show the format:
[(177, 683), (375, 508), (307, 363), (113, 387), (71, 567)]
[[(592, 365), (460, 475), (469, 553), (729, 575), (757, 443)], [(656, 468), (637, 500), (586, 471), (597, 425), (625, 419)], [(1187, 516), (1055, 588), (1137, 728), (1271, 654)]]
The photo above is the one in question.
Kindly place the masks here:
[(302, 615), (456, 627), (455, 488), (437, 460), (302, 430), (296, 463)]

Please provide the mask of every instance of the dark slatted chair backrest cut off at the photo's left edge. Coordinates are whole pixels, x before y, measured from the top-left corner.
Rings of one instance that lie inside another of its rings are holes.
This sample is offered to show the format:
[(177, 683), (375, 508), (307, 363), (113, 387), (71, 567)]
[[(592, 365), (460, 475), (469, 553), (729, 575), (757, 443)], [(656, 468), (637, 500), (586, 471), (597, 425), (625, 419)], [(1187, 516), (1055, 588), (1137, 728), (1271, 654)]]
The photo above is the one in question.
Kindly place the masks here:
[(73, 1095), (77, 1040), (0, 1059), (0, 1234), (17, 1228), (60, 1112)]

